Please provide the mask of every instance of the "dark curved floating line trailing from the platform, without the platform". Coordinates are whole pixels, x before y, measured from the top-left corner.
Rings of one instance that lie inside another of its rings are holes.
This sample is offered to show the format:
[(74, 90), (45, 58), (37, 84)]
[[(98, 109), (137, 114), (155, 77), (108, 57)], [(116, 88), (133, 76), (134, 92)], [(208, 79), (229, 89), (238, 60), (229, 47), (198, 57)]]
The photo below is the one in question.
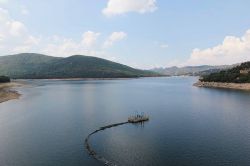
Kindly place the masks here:
[(112, 127), (117, 127), (117, 126), (121, 126), (121, 125), (124, 125), (124, 124), (128, 124), (129, 122), (122, 122), (122, 123), (115, 123), (115, 124), (111, 124), (111, 125), (107, 125), (107, 126), (103, 126), (103, 127), (100, 127), (98, 130), (95, 130), (94, 132), (90, 133), (86, 139), (85, 139), (85, 148), (87, 149), (88, 153), (90, 156), (92, 156), (94, 159), (96, 159), (97, 161), (100, 161), (102, 162), (104, 165), (107, 165), (107, 166), (117, 166), (115, 163), (113, 163), (112, 161), (109, 161), (107, 160), (106, 158), (104, 158), (103, 156), (101, 155), (98, 155), (90, 146), (89, 144), (89, 139), (92, 135), (100, 132), (100, 131), (103, 131), (105, 129), (108, 129), (108, 128), (112, 128)]

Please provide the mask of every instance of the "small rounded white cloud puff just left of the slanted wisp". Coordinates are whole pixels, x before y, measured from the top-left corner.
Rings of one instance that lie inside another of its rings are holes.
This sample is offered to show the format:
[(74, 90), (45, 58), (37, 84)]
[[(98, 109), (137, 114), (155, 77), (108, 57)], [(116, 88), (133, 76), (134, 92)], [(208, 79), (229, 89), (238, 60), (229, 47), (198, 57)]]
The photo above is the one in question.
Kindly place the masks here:
[(86, 47), (92, 47), (99, 36), (100, 33), (87, 31), (82, 35), (82, 44), (85, 45)]

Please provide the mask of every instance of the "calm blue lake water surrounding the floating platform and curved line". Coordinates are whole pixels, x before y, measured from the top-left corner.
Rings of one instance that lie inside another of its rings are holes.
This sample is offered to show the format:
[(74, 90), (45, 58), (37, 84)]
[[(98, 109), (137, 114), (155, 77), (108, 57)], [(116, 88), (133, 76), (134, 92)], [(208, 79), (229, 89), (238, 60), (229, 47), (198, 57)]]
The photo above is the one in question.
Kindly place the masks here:
[(250, 93), (197, 88), (196, 77), (28, 80), (0, 104), (1, 166), (101, 166), (84, 139), (101, 126), (145, 112), (91, 137), (118, 165), (250, 165)]

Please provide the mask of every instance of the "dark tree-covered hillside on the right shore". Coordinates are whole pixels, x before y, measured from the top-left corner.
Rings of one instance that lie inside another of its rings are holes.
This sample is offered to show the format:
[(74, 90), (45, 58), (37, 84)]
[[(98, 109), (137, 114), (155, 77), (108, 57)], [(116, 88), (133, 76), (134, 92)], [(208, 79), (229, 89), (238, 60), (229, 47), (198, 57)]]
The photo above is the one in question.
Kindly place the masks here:
[(250, 83), (250, 62), (232, 69), (211, 73), (200, 79), (202, 82)]

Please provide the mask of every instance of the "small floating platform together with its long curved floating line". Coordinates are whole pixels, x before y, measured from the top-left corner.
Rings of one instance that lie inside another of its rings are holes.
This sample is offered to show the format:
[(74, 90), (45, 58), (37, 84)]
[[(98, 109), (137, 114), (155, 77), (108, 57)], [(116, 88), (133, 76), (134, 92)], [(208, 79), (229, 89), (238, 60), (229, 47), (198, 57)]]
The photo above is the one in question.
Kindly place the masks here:
[(141, 115), (135, 115), (135, 116), (130, 116), (128, 118), (128, 121), (127, 122), (122, 122), (122, 123), (115, 123), (115, 124), (111, 124), (111, 125), (107, 125), (107, 126), (103, 126), (103, 127), (100, 127), (98, 130), (95, 130), (93, 131), (92, 133), (90, 133), (87, 138), (85, 139), (85, 148), (87, 149), (88, 153), (90, 156), (92, 156), (94, 159), (102, 162), (104, 165), (107, 165), (107, 166), (116, 166), (116, 164), (112, 161), (109, 161), (107, 160), (106, 158), (98, 155), (90, 146), (89, 144), (89, 139), (92, 135), (96, 134), (97, 132), (100, 132), (100, 131), (103, 131), (105, 129), (108, 129), (108, 128), (112, 128), (112, 127), (117, 127), (117, 126), (121, 126), (121, 125), (124, 125), (124, 124), (128, 124), (128, 123), (143, 123), (145, 121), (148, 121), (149, 120), (149, 117), (144, 115), (144, 114), (141, 114)]

